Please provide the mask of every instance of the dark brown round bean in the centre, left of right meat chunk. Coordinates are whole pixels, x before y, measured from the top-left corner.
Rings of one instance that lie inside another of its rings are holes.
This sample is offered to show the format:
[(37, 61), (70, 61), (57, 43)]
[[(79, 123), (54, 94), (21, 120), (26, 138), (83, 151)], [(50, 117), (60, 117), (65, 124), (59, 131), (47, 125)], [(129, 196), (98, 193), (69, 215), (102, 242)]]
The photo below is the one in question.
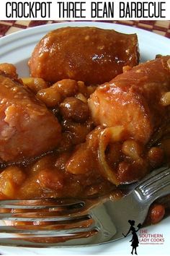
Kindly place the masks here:
[(76, 122), (84, 122), (89, 117), (88, 105), (78, 98), (66, 98), (60, 105), (60, 111), (65, 119)]

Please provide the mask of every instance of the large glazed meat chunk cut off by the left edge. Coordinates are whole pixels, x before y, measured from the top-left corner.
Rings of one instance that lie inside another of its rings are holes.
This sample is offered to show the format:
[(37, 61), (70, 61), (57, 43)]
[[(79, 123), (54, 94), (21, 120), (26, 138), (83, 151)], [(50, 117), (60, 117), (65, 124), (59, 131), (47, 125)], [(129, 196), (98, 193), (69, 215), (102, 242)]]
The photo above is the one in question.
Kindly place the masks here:
[(0, 73), (0, 161), (21, 161), (52, 150), (61, 127), (18, 80)]

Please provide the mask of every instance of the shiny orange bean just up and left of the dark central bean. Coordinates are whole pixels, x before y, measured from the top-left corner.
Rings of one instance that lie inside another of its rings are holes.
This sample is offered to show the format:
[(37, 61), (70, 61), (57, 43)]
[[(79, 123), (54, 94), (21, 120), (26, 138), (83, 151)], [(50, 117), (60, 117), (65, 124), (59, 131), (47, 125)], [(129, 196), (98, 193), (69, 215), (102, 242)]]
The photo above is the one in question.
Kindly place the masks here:
[(58, 88), (46, 88), (37, 92), (37, 98), (44, 102), (48, 107), (54, 107), (61, 103), (61, 93), (58, 92)]

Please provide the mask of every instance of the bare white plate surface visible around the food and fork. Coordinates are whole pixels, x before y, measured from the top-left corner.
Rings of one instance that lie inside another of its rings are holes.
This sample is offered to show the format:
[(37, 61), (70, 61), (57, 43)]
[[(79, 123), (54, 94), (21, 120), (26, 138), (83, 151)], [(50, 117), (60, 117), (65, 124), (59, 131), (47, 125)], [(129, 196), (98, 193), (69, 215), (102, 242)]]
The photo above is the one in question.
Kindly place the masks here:
[[(140, 47), (140, 61), (154, 59), (156, 54), (170, 54), (170, 40), (161, 35), (140, 30), (135, 27), (115, 25), (102, 22), (68, 22), (53, 25), (43, 25), (23, 30), (19, 33), (6, 35), (0, 39), (0, 63), (9, 62), (15, 64), (19, 76), (27, 76), (29, 70), (27, 60), (30, 58), (33, 48), (43, 35), (58, 27), (66, 26), (96, 26), (107, 29), (115, 29), (122, 33), (137, 33)], [(147, 227), (149, 234), (164, 236), (163, 244), (139, 244), (138, 255), (169, 255), (170, 252), (170, 218), (161, 223)], [(1, 254), (7, 255), (130, 255), (130, 237), (117, 242), (91, 247), (60, 247), (60, 248), (17, 248), (0, 247)]]

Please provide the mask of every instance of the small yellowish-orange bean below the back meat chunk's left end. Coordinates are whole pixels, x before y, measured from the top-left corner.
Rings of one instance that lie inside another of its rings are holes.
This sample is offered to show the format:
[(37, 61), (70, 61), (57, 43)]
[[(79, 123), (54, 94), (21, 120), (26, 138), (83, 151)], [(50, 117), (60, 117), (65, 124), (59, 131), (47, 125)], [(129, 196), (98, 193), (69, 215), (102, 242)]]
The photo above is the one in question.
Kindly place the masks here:
[(30, 88), (33, 93), (37, 93), (39, 90), (48, 88), (47, 83), (42, 78), (22, 77), (22, 82)]

